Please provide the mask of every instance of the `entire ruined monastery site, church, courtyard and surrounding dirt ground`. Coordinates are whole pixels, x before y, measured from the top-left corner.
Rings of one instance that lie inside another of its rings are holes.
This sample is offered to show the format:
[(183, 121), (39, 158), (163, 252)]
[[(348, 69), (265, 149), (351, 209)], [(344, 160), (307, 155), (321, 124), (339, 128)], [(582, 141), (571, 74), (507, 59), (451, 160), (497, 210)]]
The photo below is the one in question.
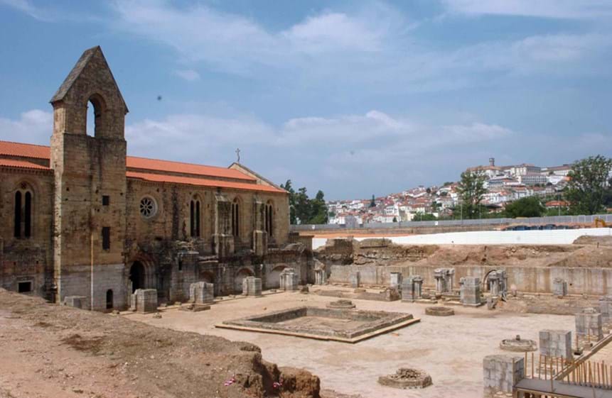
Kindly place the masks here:
[(50, 103), (0, 141), (1, 398), (612, 398), (610, 228), (290, 226), (240, 162), (127, 155), (100, 47)]

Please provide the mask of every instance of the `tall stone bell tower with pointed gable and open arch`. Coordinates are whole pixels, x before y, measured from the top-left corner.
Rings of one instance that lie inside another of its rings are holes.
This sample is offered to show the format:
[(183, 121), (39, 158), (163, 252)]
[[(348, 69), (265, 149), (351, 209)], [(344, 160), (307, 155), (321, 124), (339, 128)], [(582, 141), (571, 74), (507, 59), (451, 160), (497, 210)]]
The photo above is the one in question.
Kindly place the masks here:
[(112, 290), (112, 306), (124, 307), (128, 109), (100, 46), (83, 52), (50, 103), (57, 301), (80, 296), (84, 308), (105, 309)]

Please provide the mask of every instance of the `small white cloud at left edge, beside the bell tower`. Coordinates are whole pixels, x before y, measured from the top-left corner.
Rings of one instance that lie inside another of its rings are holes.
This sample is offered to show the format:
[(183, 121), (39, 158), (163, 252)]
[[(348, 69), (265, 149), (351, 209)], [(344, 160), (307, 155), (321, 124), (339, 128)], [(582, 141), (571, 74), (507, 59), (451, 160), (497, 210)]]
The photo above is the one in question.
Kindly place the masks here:
[(0, 118), (0, 138), (6, 141), (49, 145), (53, 133), (53, 113), (33, 109), (17, 120)]

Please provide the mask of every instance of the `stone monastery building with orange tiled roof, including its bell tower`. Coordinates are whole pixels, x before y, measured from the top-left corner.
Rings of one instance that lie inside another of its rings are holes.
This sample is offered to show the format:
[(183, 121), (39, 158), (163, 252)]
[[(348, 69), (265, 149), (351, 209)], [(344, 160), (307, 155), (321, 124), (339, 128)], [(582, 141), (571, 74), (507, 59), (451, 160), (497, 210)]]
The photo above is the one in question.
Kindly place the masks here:
[(284, 189), (239, 163), (126, 155), (128, 109), (100, 47), (50, 103), (50, 146), (0, 141), (0, 287), (104, 311), (138, 288), (175, 302), (199, 281), (215, 294), (242, 292), (249, 275), (276, 287), (289, 265), (308, 279), (312, 255), (289, 242)]

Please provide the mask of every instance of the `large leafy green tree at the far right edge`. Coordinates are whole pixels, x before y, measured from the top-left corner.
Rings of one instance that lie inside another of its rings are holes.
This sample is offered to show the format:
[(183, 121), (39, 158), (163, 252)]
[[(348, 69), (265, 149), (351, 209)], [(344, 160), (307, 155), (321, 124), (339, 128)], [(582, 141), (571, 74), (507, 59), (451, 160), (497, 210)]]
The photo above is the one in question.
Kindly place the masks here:
[(565, 198), (572, 214), (596, 214), (603, 210), (610, 189), (612, 159), (596, 155), (575, 162), (568, 174)]

